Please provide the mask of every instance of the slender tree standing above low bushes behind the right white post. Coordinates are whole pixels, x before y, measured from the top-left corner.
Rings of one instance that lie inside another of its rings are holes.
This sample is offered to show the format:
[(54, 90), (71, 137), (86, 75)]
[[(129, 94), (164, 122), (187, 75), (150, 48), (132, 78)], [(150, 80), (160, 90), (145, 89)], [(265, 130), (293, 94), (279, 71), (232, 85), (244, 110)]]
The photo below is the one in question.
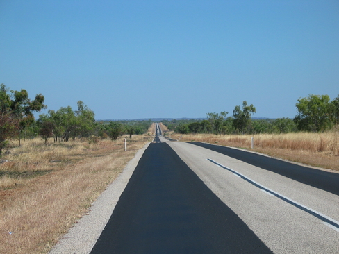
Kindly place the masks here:
[(251, 123), (251, 115), (256, 113), (256, 108), (254, 105), (247, 105), (247, 101), (242, 102), (242, 110), (240, 105), (235, 106), (233, 110), (233, 126), (236, 130), (239, 130), (240, 133), (246, 133)]

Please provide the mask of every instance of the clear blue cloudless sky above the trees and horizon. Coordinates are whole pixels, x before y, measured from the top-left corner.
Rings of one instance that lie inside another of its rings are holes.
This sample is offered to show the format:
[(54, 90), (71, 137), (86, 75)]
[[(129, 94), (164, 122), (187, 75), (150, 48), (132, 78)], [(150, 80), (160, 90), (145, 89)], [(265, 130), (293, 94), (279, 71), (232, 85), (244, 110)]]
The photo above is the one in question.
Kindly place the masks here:
[(295, 117), (339, 94), (339, 1), (1, 0), (0, 83), (96, 119)]

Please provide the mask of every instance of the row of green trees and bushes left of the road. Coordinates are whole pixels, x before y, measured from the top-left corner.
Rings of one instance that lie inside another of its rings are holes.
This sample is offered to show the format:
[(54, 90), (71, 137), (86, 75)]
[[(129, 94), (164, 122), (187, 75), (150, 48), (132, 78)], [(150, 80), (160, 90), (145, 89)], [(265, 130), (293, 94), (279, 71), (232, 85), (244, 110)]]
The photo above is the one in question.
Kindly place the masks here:
[(14, 91), (0, 85), (0, 155), (9, 139), (42, 137), (46, 143), (67, 142), (76, 137), (101, 137), (117, 139), (121, 135), (146, 133), (152, 124), (148, 121), (95, 121), (94, 112), (83, 101), (78, 101), (77, 110), (70, 106), (49, 110), (35, 119), (34, 112), (47, 108), (44, 96), (37, 94), (31, 100), (24, 89)]

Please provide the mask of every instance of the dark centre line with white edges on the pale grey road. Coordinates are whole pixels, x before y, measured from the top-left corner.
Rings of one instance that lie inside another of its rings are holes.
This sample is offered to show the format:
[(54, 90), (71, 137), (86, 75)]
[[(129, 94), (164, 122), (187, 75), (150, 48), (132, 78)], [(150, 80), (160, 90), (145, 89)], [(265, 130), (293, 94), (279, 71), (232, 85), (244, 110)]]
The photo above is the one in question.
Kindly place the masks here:
[(313, 215), (314, 217), (317, 217), (318, 219), (321, 219), (326, 226), (329, 226), (329, 228), (332, 228), (333, 230), (336, 230), (339, 232), (339, 222), (336, 221), (335, 219), (332, 219), (331, 217), (326, 216), (325, 214), (322, 214), (321, 212), (317, 212), (313, 210), (312, 208), (308, 208), (305, 205), (302, 205), (301, 203), (298, 203), (297, 201), (293, 201), (292, 199), (283, 196), (282, 194), (279, 194), (278, 192), (274, 192), (272, 189), (268, 189), (267, 187), (261, 185), (260, 183), (256, 183), (256, 181), (251, 180), (247, 176), (242, 175), (242, 173), (239, 173), (233, 169), (230, 169), (229, 167), (225, 167), (224, 165), (215, 162), (214, 160), (211, 159), (206, 159), (214, 164), (216, 164), (219, 167), (222, 167), (223, 169), (227, 169), (228, 171), (231, 171), (233, 174), (240, 176), (242, 179), (246, 180), (248, 183), (251, 183), (252, 185), (258, 187), (259, 189), (268, 192), (277, 198), (280, 198), (282, 201), (285, 201), (286, 203), (289, 203), (290, 205), (294, 205), (296, 208), (299, 208), (305, 212), (308, 212), (308, 214)]

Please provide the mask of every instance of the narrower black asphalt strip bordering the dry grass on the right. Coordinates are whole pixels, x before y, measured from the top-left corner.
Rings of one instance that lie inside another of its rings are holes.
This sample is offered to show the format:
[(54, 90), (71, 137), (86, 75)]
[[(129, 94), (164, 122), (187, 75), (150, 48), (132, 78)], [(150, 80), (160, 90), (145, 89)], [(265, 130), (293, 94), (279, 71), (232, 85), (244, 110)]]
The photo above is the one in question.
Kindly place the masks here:
[(216, 146), (213, 144), (206, 144), (200, 142), (192, 142), (197, 146), (222, 153), (231, 158), (247, 162), (248, 164), (260, 167), (261, 169), (269, 170), (274, 173), (279, 173), (281, 176), (304, 183), (326, 192), (339, 195), (339, 173), (331, 173), (319, 169), (312, 169), (310, 167), (303, 167), (297, 164), (284, 162), (256, 153), (249, 153), (239, 149), (232, 149), (226, 146)]

